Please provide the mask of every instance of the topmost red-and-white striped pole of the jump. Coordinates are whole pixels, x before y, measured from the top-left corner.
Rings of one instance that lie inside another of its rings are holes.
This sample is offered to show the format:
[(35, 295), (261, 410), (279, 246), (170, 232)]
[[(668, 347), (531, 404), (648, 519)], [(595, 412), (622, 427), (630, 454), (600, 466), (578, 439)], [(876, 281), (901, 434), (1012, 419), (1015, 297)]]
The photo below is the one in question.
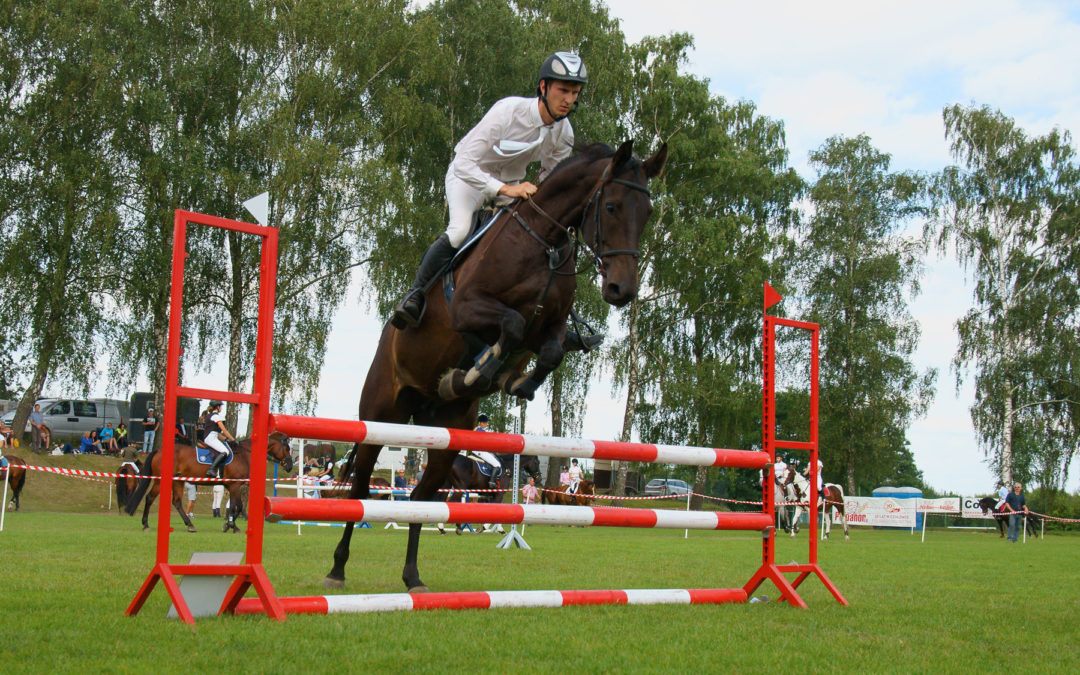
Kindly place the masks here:
[(619, 461), (662, 462), (688, 467), (732, 467), (764, 469), (769, 454), (760, 450), (729, 450), (619, 441), (585, 441), (559, 436), (470, 431), (442, 427), (416, 427), (389, 422), (271, 415), (270, 431), (319, 441), (349, 441), (367, 445), (397, 445), (436, 450), (488, 450), (514, 455), (578, 457)]

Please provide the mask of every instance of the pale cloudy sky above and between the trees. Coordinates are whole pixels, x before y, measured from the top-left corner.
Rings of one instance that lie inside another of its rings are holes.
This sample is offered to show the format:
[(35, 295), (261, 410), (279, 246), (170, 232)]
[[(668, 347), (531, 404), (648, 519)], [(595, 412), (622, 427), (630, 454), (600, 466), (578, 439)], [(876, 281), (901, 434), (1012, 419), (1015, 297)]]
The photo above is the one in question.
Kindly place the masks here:
[[(867, 134), (892, 156), (894, 171), (941, 170), (950, 163), (941, 113), (956, 103), (998, 108), (1029, 134), (1055, 126), (1080, 130), (1080, 4), (608, 0), (607, 5), (630, 41), (691, 33), (696, 49), (688, 69), (707, 79), (715, 95), (751, 100), (760, 114), (782, 121), (789, 162), (810, 180), (808, 153), (834, 135)], [(359, 299), (362, 281), (354, 279), (351, 299), (334, 323), (319, 386), (321, 417), (356, 416), (380, 329)], [(970, 305), (971, 285), (956, 260), (932, 256), (910, 310), (922, 328), (916, 366), (939, 370), (937, 393), (908, 440), (927, 483), (957, 495), (989, 492), (996, 480), (971, 427), (973, 390), (957, 389), (950, 368), (954, 324)], [(221, 387), (216, 379), (199, 376), (188, 383)], [(617, 437), (624, 396), (607, 380), (594, 382), (582, 435)], [(546, 409), (541, 392), (528, 406), (527, 432), (548, 433)], [(826, 478), (838, 480), (829, 469)], [(1080, 488), (1080, 477), (1072, 476), (1068, 486)]]

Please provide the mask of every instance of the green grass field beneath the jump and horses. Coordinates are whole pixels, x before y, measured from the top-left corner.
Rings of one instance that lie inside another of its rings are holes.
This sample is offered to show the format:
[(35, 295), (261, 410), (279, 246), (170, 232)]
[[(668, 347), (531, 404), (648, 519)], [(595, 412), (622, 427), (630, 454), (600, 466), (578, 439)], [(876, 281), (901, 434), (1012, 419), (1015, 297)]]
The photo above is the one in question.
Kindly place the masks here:
[[(30, 499), (30, 492), (27, 494)], [(29, 501), (27, 502), (29, 504)], [(173, 536), (173, 561), (240, 551), (220, 521)], [(266, 567), (281, 595), (322, 594), (338, 528), (268, 525)], [(760, 539), (734, 532), (536, 527), (532, 551), (499, 551), (492, 535), (421, 541), (436, 591), (742, 585)], [(805, 559), (806, 534), (777, 559)], [(405, 534), (360, 530), (349, 593), (401, 592)], [(123, 611), (153, 559), (153, 535), (105, 513), (9, 513), (0, 532), (0, 673), (297, 672), (1027, 672), (1080, 667), (1080, 538), (1026, 545), (997, 534), (853, 530), (821, 562), (850, 602), (812, 580), (810, 609), (783, 604), (572, 607), (166, 620), (159, 586), (135, 618)], [(775, 598), (771, 586), (758, 594)]]

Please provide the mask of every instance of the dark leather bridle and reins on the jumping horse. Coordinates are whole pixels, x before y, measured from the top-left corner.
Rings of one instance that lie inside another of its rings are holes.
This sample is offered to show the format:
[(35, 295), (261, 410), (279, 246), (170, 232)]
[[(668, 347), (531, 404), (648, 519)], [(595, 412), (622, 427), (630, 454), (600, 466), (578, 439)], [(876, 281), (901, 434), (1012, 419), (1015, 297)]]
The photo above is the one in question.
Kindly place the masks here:
[[(605, 273), (606, 269), (606, 266), (604, 265), (604, 258), (613, 256), (633, 256), (634, 259), (636, 260), (640, 257), (642, 252), (638, 251), (637, 248), (609, 248), (607, 251), (599, 249), (604, 242), (603, 226), (600, 225), (600, 204), (604, 201), (604, 189), (607, 186), (611, 185), (612, 183), (616, 183), (625, 186), (627, 188), (631, 188), (633, 190), (644, 192), (649, 198), (652, 197), (652, 193), (649, 192), (649, 188), (639, 183), (634, 183), (632, 180), (625, 180), (623, 178), (612, 177), (611, 166), (612, 164), (609, 162), (608, 165), (604, 167), (604, 173), (600, 174), (600, 177), (596, 180), (596, 186), (590, 191), (589, 199), (585, 200), (584, 205), (582, 206), (581, 210), (581, 221), (578, 224), (577, 227), (573, 226), (566, 227), (565, 225), (559, 222), (556, 218), (551, 216), (548, 212), (545, 212), (536, 202), (535, 199), (525, 200), (528, 202), (529, 206), (531, 206), (537, 214), (539, 214), (545, 220), (554, 225), (557, 230), (566, 234), (565, 243), (569, 244), (569, 248), (565, 256), (559, 251), (564, 246), (564, 242), (552, 243), (548, 241), (546, 239), (538, 234), (536, 230), (529, 227), (528, 222), (526, 222), (525, 219), (521, 216), (521, 214), (517, 213), (518, 207), (521, 207), (522, 200), (518, 200), (518, 202), (514, 205), (513, 210), (510, 212), (510, 215), (514, 218), (514, 220), (517, 221), (517, 225), (519, 225), (522, 229), (528, 232), (532, 237), (532, 239), (539, 242), (540, 245), (543, 246), (544, 249), (548, 252), (548, 268), (554, 274), (565, 274), (565, 275), (578, 274), (579, 272), (573, 270), (571, 270), (570, 272), (563, 272), (559, 270), (568, 261), (577, 257), (577, 249), (582, 246), (585, 248), (585, 251), (589, 252), (589, 257), (591, 261), (593, 262), (593, 265), (596, 267), (596, 270), (600, 274)], [(592, 242), (588, 242), (584, 239), (582, 239), (582, 232), (584, 231), (584, 227), (589, 221), (590, 210), (592, 210), (593, 213), (593, 225), (594, 225)]]

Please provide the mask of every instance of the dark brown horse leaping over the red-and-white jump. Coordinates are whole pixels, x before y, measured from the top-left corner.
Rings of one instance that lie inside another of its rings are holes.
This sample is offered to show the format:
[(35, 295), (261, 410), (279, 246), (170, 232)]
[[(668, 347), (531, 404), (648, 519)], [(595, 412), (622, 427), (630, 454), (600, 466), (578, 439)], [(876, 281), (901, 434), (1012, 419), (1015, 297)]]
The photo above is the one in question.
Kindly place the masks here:
[[(647, 188), (667, 158), (648, 160), (633, 141), (618, 150), (596, 144), (562, 162), (530, 200), (504, 213), (429, 295), (423, 322), (387, 324), (360, 400), (360, 419), (473, 429), (480, 399), (498, 390), (532, 399), (563, 361), (566, 321), (579, 257), (599, 271), (605, 301), (622, 307), (637, 295), (637, 247), (652, 213)], [(536, 355), (536, 365), (525, 367)], [(352, 499), (368, 496), (380, 445), (356, 445)], [(456, 451), (431, 450), (411, 499), (428, 501), (449, 477)], [(345, 585), (353, 528), (346, 527), (324, 585)], [(417, 569), (420, 525), (409, 526), (402, 580), (426, 591)]]

